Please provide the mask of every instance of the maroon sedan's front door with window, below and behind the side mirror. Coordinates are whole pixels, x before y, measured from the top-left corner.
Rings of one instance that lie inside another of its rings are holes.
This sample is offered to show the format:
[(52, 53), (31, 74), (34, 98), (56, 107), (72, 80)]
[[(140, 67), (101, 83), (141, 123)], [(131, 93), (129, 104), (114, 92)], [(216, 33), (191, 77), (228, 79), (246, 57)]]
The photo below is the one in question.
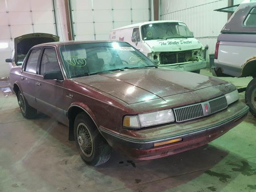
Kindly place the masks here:
[(66, 116), (63, 113), (64, 80), (44, 80), (45, 72), (61, 71), (54, 47), (44, 47), (38, 65), (38, 75), (35, 80), (36, 102), (38, 110), (54, 116), (60, 122)]

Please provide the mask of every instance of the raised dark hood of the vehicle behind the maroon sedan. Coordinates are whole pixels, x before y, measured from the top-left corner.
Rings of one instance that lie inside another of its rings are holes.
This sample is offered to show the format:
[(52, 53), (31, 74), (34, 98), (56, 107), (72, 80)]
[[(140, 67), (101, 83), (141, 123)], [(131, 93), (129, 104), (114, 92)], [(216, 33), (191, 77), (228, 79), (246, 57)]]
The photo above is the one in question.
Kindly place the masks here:
[(26, 54), (35, 45), (48, 42), (57, 42), (59, 36), (48, 33), (31, 33), (14, 38), (14, 60), (16, 65), (23, 62)]

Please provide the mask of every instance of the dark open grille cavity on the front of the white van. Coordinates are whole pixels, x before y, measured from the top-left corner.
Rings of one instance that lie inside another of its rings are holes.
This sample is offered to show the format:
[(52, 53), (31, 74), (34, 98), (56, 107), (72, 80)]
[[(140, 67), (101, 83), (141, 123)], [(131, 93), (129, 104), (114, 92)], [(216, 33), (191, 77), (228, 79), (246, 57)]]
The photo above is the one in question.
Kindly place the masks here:
[(161, 64), (184, 63), (192, 59), (192, 51), (162, 52), (160, 53)]

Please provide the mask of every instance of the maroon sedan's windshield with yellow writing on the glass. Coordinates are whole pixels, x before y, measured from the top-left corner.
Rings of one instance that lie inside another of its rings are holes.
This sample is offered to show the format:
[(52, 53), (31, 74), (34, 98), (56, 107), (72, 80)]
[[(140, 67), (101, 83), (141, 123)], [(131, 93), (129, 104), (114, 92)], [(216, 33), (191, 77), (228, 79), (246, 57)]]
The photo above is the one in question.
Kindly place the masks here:
[(97, 42), (60, 47), (69, 78), (130, 68), (156, 67), (146, 56), (126, 42)]

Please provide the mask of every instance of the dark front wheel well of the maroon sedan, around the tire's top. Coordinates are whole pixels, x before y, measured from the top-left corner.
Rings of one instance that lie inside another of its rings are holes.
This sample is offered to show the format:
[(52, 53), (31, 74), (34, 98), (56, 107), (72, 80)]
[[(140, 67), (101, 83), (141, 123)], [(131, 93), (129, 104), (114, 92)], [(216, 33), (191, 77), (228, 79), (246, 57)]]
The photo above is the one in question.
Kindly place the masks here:
[[(74, 138), (74, 121), (75, 121), (76, 116), (80, 112), (86, 112), (86, 111), (78, 106), (72, 106), (71, 108), (68, 109), (68, 120), (69, 120), (68, 140), (70, 140), (70, 141), (75, 140), (75, 138)], [(86, 115), (88, 116), (89, 119), (92, 120), (92, 117), (90, 115), (88, 115), (87, 112), (86, 112)]]

